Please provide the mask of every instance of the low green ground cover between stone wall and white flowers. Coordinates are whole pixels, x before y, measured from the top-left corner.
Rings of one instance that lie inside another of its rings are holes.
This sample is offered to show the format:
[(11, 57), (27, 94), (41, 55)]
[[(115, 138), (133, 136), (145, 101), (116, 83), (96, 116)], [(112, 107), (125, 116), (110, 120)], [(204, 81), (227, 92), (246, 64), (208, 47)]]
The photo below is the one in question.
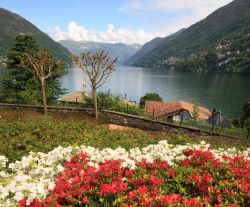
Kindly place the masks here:
[(161, 136), (154, 137), (142, 131), (111, 131), (82, 115), (81, 118), (71, 118), (60, 113), (56, 117), (15, 114), (12, 118), (10, 115), (6, 119), (3, 115), (0, 118), (0, 154), (11, 161), (20, 159), (30, 151), (48, 152), (59, 145), (83, 144), (97, 148), (122, 146), (130, 149), (154, 144), (161, 139)]

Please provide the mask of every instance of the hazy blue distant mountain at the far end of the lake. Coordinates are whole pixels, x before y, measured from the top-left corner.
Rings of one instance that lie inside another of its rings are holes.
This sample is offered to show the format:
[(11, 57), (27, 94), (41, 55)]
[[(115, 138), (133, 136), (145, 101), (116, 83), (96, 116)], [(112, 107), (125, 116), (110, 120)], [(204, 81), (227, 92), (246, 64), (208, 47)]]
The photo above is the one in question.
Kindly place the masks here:
[(95, 53), (97, 50), (106, 50), (112, 57), (118, 57), (119, 64), (123, 64), (141, 48), (139, 44), (126, 45), (122, 43), (112, 44), (73, 40), (61, 40), (59, 43), (75, 55), (80, 55), (81, 52), (87, 51)]

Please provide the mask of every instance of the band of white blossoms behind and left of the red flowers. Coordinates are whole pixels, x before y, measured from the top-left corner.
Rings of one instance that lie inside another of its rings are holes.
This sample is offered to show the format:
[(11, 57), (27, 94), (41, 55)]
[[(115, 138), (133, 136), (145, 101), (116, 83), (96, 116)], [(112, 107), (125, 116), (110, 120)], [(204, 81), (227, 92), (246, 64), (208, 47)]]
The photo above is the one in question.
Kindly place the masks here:
[[(8, 159), (5, 156), (0, 156), (0, 206), (17, 206), (17, 202), (24, 196), (27, 197), (27, 205), (34, 198), (40, 200), (45, 198), (48, 190), (55, 187), (57, 174), (64, 170), (64, 162), (69, 161), (72, 156), (79, 152), (89, 155), (89, 166), (98, 168), (100, 163), (107, 160), (121, 160), (121, 167), (134, 170), (136, 161), (142, 159), (145, 159), (148, 163), (157, 159), (167, 161), (169, 165), (176, 165), (176, 162), (186, 158), (183, 154), (184, 150), (201, 148), (205, 151), (209, 147), (210, 145), (204, 141), (200, 144), (171, 145), (167, 140), (162, 140), (156, 145), (148, 145), (143, 149), (133, 148), (129, 151), (121, 147), (100, 150), (84, 145), (66, 148), (59, 146), (47, 154), (30, 152), (20, 161), (9, 165), (7, 165)], [(211, 150), (211, 152), (215, 158), (220, 160), (223, 160), (223, 155), (229, 157), (241, 155), (250, 160), (250, 148), (243, 152), (237, 151), (235, 148), (219, 148)], [(9, 170), (6, 171), (5, 168)], [(4, 182), (1, 182), (1, 179), (4, 179)]]

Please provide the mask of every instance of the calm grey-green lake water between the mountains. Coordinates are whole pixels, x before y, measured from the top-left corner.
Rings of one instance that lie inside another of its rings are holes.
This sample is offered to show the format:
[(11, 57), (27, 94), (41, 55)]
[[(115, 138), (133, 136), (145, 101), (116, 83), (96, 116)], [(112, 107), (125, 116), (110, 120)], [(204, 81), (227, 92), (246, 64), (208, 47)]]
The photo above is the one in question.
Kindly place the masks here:
[[(82, 90), (86, 79), (80, 69), (71, 68), (61, 82), (71, 92)], [(127, 94), (135, 101), (145, 93), (157, 92), (166, 101), (197, 102), (210, 110), (216, 107), (229, 118), (236, 118), (250, 98), (250, 77), (123, 66), (118, 67), (99, 90), (109, 89), (122, 96)]]

